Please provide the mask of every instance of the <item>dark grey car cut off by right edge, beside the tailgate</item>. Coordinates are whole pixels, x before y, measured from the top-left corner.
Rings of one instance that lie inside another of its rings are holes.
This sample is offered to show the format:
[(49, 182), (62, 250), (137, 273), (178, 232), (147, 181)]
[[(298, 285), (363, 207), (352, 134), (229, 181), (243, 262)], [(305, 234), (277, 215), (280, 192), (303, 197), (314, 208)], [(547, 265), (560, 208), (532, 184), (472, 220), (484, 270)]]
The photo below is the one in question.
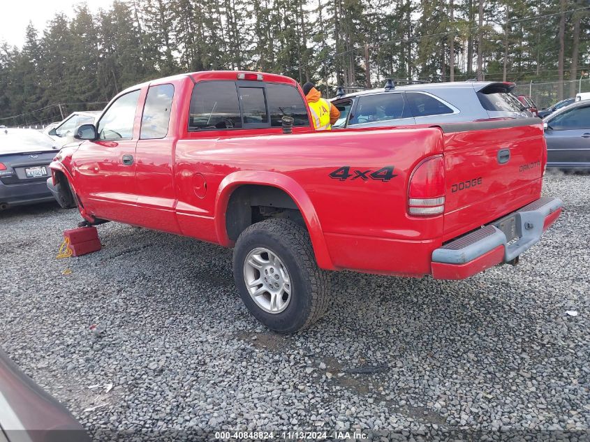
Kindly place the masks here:
[(545, 118), (547, 167), (590, 170), (590, 100)]

